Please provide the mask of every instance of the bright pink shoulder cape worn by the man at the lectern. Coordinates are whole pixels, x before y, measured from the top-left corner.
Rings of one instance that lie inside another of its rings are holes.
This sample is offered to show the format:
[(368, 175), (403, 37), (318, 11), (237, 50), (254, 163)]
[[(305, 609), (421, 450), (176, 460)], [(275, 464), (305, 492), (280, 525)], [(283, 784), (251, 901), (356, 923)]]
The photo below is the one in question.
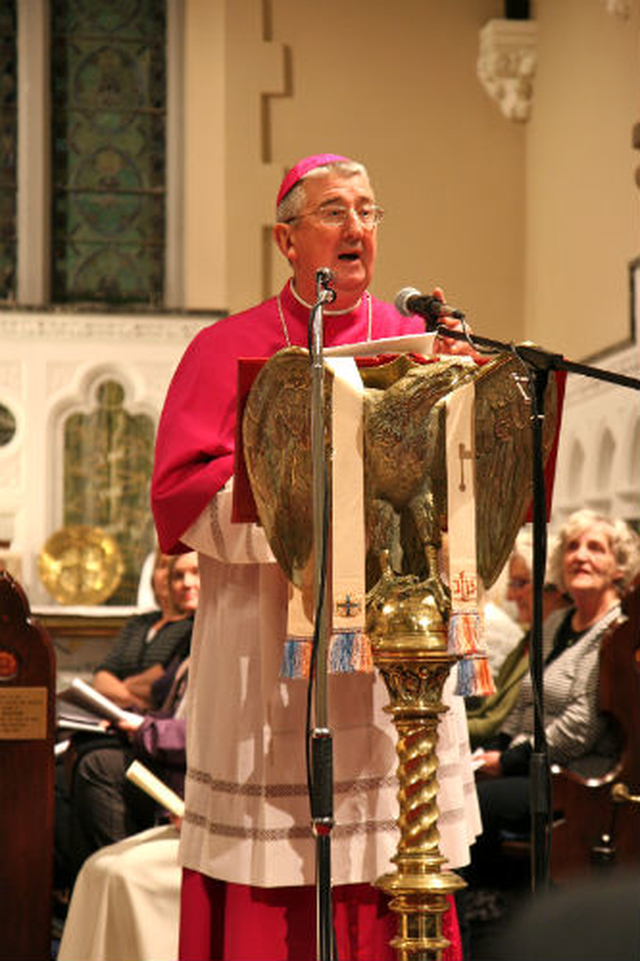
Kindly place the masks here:
[[(281, 292), (292, 344), (307, 346), (309, 311)], [(366, 299), (366, 298), (365, 298)], [(367, 339), (363, 300), (350, 315), (325, 311), (326, 347)], [(421, 333), (424, 322), (402, 317), (391, 304), (372, 298), (372, 340)], [(187, 348), (165, 401), (156, 442), (151, 484), (153, 513), (166, 553), (186, 550), (180, 537), (233, 473), (239, 358), (271, 357), (286, 346), (275, 297), (212, 324)]]

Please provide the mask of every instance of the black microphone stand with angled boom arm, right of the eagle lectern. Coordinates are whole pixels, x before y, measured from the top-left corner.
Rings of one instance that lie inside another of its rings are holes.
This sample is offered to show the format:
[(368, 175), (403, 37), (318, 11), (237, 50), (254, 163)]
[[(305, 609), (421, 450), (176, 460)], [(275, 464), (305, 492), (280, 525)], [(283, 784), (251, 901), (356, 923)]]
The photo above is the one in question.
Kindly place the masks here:
[[(434, 329), (433, 318), (427, 317), (427, 330)], [(602, 370), (585, 364), (566, 360), (562, 354), (552, 353), (535, 344), (502, 343), (488, 337), (470, 335), (464, 324), (462, 330), (451, 330), (436, 322), (435, 330), (440, 337), (464, 340), (474, 349), (484, 347), (497, 353), (509, 353), (519, 358), (526, 369), (532, 406), (532, 480), (533, 480), (533, 623), (531, 625), (530, 673), (534, 691), (533, 751), (529, 763), (530, 809), (531, 809), (531, 890), (546, 888), (549, 884), (549, 840), (553, 814), (551, 774), (549, 770), (544, 728), (544, 660), (542, 650), (542, 594), (546, 568), (547, 549), (547, 502), (544, 479), (544, 454), (542, 435), (544, 427), (544, 395), (549, 373), (564, 370), (582, 374), (597, 380), (608, 381), (621, 387), (640, 390), (640, 380)]]

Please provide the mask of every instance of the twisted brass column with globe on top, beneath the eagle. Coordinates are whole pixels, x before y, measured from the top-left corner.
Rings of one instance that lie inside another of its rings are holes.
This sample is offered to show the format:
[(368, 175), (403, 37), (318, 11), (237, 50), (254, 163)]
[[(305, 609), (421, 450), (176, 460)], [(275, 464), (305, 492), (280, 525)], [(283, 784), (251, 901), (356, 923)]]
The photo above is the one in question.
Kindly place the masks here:
[(384, 678), (397, 730), (398, 827), (394, 873), (375, 882), (391, 897), (398, 933), (391, 941), (400, 961), (437, 961), (449, 946), (442, 935), (447, 895), (464, 887), (441, 870), (439, 850), (439, 715), (448, 708), (442, 689), (457, 655), (447, 652), (447, 625), (438, 592), (415, 577), (385, 577), (369, 597), (367, 630), (373, 659)]

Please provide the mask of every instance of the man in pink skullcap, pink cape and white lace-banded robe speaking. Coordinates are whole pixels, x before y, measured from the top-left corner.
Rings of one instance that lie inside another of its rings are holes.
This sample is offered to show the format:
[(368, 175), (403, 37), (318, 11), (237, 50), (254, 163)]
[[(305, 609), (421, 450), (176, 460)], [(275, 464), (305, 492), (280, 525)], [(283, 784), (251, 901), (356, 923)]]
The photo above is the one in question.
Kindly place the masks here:
[[(197, 550), (202, 576), (181, 840), (182, 961), (315, 957), (306, 684), (280, 676), (288, 584), (262, 528), (231, 522), (238, 360), (307, 345), (316, 273), (325, 267), (336, 294), (323, 312), (325, 346), (424, 333), (424, 321), (402, 317), (368, 290), (383, 211), (360, 163), (335, 154), (304, 158), (286, 174), (276, 206), (274, 239), (291, 279), (277, 296), (197, 335), (169, 387), (157, 435), (152, 503), (160, 544), (167, 552)], [(436, 348), (468, 350), (455, 340)], [(479, 822), (463, 704), (447, 696), (440, 834), (455, 868), (468, 860)], [(371, 673), (329, 678), (335, 923), (345, 961), (393, 956), (395, 919), (370, 886), (389, 869), (397, 844), (386, 702)], [(445, 927), (456, 942), (454, 912)]]

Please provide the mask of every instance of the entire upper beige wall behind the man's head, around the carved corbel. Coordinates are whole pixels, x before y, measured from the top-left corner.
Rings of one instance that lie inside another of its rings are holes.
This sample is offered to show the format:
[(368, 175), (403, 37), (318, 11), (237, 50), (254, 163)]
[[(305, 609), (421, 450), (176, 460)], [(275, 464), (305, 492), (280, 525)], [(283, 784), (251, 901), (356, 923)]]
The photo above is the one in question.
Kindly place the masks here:
[(638, 6), (625, 19), (604, 0), (533, 4), (526, 123), (477, 78), (479, 31), (502, 9), (186, 0), (185, 306), (237, 310), (278, 288), (278, 182), (330, 149), (367, 163), (387, 209), (378, 295), (439, 283), (476, 330), (577, 359), (624, 341)]

